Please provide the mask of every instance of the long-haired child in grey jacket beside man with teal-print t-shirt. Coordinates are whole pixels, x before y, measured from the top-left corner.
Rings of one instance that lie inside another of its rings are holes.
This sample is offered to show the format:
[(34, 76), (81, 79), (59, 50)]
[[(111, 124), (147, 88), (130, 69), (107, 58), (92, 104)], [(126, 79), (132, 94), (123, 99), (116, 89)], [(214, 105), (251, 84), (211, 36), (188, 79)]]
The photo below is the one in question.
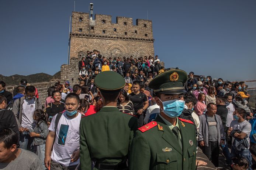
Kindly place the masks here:
[(38, 158), (42, 161), (42, 166), (45, 168), (45, 141), (49, 133), (47, 125), (48, 115), (42, 109), (37, 109), (33, 114), (33, 119), (37, 121), (35, 129), (25, 128), (25, 131), (30, 132), (30, 137), (34, 137), (33, 145), (36, 149)]

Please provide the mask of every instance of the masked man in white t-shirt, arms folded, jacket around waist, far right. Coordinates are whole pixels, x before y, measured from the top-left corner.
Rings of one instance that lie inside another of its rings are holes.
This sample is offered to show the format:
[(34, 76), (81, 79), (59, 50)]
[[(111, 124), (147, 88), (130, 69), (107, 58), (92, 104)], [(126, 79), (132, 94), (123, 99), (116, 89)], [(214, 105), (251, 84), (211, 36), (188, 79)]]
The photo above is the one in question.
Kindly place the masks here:
[[(232, 120), (230, 123), (229, 129), (228, 129), (228, 135), (232, 135), (232, 147), (231, 147), (231, 158), (238, 158), (238, 157), (244, 157), (249, 162), (249, 167), (252, 165), (252, 158), (249, 151), (250, 147), (250, 139), (249, 135), (252, 130), (251, 124), (245, 120), (246, 112), (242, 108), (236, 108), (233, 118), (235, 120)], [(238, 132), (234, 132), (234, 130), (237, 130)], [(240, 147), (236, 147), (235, 140), (247, 140), (248, 146), (245, 146), (242, 144)]]

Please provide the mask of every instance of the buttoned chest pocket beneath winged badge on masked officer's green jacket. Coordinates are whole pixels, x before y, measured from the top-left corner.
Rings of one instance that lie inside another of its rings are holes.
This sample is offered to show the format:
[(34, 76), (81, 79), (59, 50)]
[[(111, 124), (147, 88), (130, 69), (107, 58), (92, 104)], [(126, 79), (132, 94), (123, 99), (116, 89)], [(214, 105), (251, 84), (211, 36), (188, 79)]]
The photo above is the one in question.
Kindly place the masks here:
[(156, 170), (177, 169), (177, 153), (156, 153)]

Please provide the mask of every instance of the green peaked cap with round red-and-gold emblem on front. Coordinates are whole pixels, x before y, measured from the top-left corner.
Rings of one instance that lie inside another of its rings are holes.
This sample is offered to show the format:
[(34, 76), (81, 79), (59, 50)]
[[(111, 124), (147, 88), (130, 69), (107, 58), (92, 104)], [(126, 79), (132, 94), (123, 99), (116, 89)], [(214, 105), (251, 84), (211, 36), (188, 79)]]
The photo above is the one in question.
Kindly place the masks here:
[(170, 69), (155, 76), (149, 83), (149, 88), (156, 93), (181, 94), (186, 93), (184, 83), (187, 82), (187, 73), (179, 69)]

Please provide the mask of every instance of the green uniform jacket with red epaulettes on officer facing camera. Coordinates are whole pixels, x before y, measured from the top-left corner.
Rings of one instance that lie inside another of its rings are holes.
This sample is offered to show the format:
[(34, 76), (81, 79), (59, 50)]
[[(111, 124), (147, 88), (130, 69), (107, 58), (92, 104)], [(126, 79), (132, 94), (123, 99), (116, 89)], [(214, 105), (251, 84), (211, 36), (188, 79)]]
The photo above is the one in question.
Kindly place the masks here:
[(139, 128), (146, 130), (148, 127), (149, 130), (136, 131), (131, 147), (130, 170), (196, 169), (197, 140), (194, 125), (181, 122), (180, 119), (178, 122), (183, 143), (182, 150), (173, 132), (160, 116), (155, 122)]

